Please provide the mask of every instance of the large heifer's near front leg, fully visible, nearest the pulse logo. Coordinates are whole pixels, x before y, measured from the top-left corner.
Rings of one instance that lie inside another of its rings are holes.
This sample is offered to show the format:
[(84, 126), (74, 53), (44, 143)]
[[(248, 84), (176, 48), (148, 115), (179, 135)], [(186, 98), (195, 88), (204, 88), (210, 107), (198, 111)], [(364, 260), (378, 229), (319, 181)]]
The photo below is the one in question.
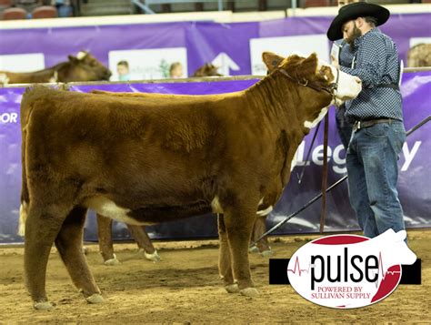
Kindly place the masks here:
[(230, 252), (232, 254), (232, 269), (238, 282), (240, 293), (245, 296), (256, 296), (258, 291), (251, 279), (248, 262), (248, 244), (256, 219), (256, 208), (229, 207), (225, 211), (225, 225)]

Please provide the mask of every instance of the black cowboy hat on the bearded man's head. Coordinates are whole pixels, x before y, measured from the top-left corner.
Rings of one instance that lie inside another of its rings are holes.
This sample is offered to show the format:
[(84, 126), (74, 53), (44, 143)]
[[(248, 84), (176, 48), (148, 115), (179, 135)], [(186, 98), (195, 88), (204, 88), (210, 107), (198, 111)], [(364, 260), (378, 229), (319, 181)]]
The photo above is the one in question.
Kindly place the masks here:
[(377, 25), (383, 25), (389, 19), (389, 10), (381, 5), (367, 4), (365, 2), (357, 2), (350, 5), (344, 5), (338, 11), (338, 15), (334, 18), (326, 36), (331, 41), (343, 38), (341, 28), (346, 22), (354, 20), (357, 17), (366, 17), (371, 15), (376, 18)]

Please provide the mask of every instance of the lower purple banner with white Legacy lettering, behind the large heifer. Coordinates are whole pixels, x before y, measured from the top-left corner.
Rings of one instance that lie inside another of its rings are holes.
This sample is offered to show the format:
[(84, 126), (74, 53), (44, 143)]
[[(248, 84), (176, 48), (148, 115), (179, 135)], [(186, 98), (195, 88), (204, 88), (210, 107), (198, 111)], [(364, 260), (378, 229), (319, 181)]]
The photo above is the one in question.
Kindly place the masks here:
[[(72, 85), (71, 90), (88, 92), (102, 89), (115, 92), (157, 92), (170, 94), (204, 95), (233, 92), (246, 89), (257, 79), (224, 80), (205, 82), (165, 82), (139, 84)], [(19, 105), (23, 87), (0, 88), (0, 242), (22, 241), (15, 235), (21, 189), (21, 131), (19, 125)], [(404, 112), (406, 129), (415, 126), (431, 113), (428, 94), (431, 92), (431, 72), (407, 73), (403, 79)], [(336, 134), (334, 109), (330, 110), (329, 135), (329, 175), (332, 184), (346, 175), (346, 153)], [(427, 179), (431, 178), (428, 152), (431, 150), (429, 135), (431, 124), (418, 129), (408, 137), (399, 159), (399, 197), (402, 202), (407, 228), (431, 227), (431, 192)], [(289, 184), (270, 217), (268, 227), (302, 208), (320, 190), (323, 165), (323, 127), (320, 127), (311, 155), (306, 161), (314, 130), (305, 138), (296, 152), (296, 167), (292, 171)], [(302, 182), (298, 176), (306, 168)], [(328, 195), (328, 215), (326, 231), (346, 231), (359, 229), (355, 215), (347, 198), (346, 182)], [(292, 218), (276, 234), (318, 232), (320, 205), (315, 203), (305, 212)], [(157, 239), (185, 239), (216, 237), (216, 217), (188, 218), (173, 223), (147, 227), (149, 235)], [(115, 223), (115, 239), (130, 239), (125, 225)], [(95, 218), (88, 218), (85, 239), (95, 240)]]

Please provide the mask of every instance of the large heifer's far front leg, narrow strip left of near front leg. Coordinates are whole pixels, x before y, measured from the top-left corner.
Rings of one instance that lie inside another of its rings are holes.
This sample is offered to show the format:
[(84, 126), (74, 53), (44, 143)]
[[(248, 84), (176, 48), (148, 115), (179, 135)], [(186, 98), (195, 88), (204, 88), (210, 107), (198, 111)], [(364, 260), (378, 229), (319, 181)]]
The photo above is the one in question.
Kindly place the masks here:
[(235, 283), (232, 273), (232, 262), (227, 242), (226, 225), (223, 214), (217, 214), (218, 237), (220, 241), (220, 251), (218, 255), (218, 272), (225, 283), (225, 289), (229, 293), (238, 292), (238, 285)]

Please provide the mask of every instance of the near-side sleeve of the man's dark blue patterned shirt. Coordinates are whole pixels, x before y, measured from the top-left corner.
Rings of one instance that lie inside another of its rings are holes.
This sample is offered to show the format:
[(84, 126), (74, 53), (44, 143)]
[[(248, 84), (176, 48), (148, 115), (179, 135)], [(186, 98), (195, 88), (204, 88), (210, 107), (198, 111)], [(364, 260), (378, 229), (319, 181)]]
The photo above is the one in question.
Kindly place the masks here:
[(378, 36), (370, 36), (364, 39), (358, 48), (356, 67), (341, 66), (340, 69), (347, 74), (359, 77), (366, 88), (373, 88), (381, 83), (385, 66), (385, 41)]

